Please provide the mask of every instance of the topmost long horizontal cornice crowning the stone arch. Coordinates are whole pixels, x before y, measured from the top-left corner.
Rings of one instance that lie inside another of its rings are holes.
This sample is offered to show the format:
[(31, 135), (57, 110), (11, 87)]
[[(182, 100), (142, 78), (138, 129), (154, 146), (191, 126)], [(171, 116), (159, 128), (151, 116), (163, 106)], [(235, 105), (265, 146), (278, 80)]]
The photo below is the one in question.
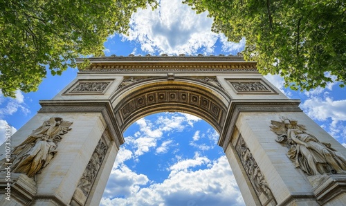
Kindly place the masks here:
[(92, 57), (76, 59), (78, 64), (87, 60), (90, 65), (81, 73), (258, 73), (256, 62), (246, 62), (242, 56), (145, 56), (145, 57)]

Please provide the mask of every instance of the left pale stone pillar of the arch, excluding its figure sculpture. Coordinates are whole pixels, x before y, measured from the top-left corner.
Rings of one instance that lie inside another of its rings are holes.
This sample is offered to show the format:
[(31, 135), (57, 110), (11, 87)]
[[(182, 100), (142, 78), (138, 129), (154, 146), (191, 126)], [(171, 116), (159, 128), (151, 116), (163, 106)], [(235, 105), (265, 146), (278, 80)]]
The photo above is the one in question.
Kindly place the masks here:
[[(60, 135), (61, 140), (57, 143), (56, 153), (42, 171), (33, 178), (21, 174), (16, 179), (17, 182), (13, 182), (13, 189), (19, 184), (19, 188), (31, 184), (24, 187), (25, 190), (13, 190), (15, 192), (11, 194), (12, 199), (16, 200), (14, 202), (17, 205), (98, 204), (116, 153), (123, 143), (122, 134), (113, 118), (111, 104), (101, 100), (52, 100), (40, 103), (42, 109), (39, 113), (12, 136), (12, 147), (24, 142), (33, 130), (41, 127), (50, 118), (62, 118), (63, 121), (72, 124), (69, 131)], [(15, 174), (12, 176), (16, 177)], [(29, 180), (20, 181), (21, 178)], [(78, 189), (82, 187), (88, 191), (86, 195), (78, 196)], [(28, 198), (23, 200), (24, 196)]]

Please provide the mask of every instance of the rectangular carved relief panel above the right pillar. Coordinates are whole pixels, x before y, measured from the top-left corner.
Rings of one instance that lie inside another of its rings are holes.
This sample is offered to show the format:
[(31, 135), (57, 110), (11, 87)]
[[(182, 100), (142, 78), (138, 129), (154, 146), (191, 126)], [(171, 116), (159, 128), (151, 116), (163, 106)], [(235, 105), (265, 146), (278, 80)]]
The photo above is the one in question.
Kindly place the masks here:
[(276, 93), (271, 86), (266, 84), (262, 79), (227, 79), (236, 93)]

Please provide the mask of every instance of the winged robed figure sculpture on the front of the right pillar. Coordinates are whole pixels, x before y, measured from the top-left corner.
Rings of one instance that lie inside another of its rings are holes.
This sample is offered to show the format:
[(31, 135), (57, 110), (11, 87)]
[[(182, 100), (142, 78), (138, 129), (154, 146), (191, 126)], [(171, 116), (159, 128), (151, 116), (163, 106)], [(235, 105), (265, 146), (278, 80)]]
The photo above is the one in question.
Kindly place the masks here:
[(277, 134), (276, 141), (289, 146), (286, 154), (295, 167), (309, 176), (346, 174), (346, 159), (331, 144), (307, 133), (304, 125), (288, 118), (281, 118), (281, 122), (272, 120), (271, 124), (271, 131)]

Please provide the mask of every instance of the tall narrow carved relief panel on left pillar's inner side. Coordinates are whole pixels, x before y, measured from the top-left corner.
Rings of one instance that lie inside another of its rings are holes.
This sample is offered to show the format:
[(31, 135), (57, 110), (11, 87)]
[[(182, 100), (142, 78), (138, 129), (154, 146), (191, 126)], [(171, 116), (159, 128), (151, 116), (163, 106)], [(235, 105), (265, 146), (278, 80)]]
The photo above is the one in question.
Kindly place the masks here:
[(86, 198), (90, 194), (91, 188), (93, 187), (93, 182), (95, 182), (95, 178), (98, 175), (98, 171), (100, 170), (107, 150), (108, 147), (101, 138), (93, 151), (88, 165), (86, 165), (82, 178), (80, 178), (80, 181), (78, 182), (78, 189), (82, 191)]

